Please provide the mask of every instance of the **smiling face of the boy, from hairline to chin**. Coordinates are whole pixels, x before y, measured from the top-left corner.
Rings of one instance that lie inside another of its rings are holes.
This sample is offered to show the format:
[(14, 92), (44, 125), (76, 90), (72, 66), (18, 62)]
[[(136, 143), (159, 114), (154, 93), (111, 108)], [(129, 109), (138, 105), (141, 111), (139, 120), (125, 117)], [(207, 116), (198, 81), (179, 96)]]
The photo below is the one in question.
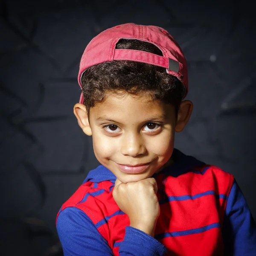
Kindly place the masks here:
[(172, 105), (150, 96), (108, 93), (104, 102), (90, 108), (90, 134), (85, 133), (93, 136), (102, 165), (122, 183), (136, 182), (151, 177), (169, 160), (176, 122)]

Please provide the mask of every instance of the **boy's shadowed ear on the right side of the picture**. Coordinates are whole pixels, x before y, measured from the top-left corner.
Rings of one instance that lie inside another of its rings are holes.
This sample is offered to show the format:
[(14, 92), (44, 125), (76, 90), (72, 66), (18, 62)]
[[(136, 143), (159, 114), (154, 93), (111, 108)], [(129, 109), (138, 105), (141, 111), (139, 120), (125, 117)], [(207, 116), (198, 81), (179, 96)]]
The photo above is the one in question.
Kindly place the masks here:
[(190, 100), (184, 100), (180, 103), (178, 111), (177, 121), (175, 125), (175, 131), (180, 132), (184, 129), (193, 110), (193, 103)]

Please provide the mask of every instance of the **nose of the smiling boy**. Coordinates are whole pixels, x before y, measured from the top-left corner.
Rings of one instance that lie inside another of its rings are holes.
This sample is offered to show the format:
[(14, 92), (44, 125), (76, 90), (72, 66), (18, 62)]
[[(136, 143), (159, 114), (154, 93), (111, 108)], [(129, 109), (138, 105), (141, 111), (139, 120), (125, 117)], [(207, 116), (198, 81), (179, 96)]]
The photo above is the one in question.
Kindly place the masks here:
[(136, 157), (137, 155), (145, 154), (145, 152), (146, 148), (141, 135), (127, 134), (123, 137), (121, 145), (121, 153), (123, 155)]

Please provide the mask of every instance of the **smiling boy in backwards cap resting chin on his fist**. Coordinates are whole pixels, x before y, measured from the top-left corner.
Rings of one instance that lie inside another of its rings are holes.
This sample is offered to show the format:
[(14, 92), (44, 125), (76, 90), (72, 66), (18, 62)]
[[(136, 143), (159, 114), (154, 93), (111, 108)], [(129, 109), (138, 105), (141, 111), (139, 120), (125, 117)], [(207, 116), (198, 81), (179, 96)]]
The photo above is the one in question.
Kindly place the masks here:
[(81, 58), (74, 113), (102, 165), (58, 212), (65, 256), (256, 255), (238, 185), (174, 149), (189, 121), (186, 60), (166, 30), (107, 29)]

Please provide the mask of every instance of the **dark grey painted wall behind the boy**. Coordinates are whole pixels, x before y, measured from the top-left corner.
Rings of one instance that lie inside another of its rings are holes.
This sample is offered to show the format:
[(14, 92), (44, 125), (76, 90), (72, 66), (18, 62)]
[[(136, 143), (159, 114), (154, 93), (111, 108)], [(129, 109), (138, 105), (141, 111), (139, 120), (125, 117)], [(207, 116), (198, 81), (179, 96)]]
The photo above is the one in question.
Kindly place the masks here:
[(61, 255), (58, 209), (98, 165), (73, 115), (79, 60), (120, 23), (162, 26), (178, 41), (194, 112), (175, 146), (235, 175), (256, 218), (252, 4), (5, 0), (0, 15), (1, 255)]

